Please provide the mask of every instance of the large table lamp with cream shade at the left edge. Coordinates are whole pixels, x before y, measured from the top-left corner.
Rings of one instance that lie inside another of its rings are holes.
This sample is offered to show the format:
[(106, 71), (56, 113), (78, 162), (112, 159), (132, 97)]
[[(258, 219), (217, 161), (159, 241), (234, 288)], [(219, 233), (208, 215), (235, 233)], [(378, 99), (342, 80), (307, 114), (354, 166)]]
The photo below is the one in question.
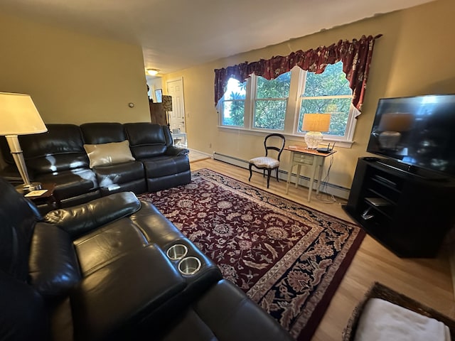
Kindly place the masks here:
[(31, 183), (23, 159), (18, 135), (44, 133), (48, 131), (38, 109), (28, 94), (0, 92), (0, 135), (6, 137), (9, 149), (23, 180), (16, 187), (21, 192), (41, 189), (41, 183)]

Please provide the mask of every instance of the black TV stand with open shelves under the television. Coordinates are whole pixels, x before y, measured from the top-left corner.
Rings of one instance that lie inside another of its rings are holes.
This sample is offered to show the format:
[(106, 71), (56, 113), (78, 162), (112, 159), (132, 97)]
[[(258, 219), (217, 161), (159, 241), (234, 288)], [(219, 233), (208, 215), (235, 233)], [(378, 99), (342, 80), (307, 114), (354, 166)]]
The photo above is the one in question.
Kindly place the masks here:
[(434, 257), (454, 226), (455, 181), (429, 175), (359, 158), (343, 209), (397, 256)]

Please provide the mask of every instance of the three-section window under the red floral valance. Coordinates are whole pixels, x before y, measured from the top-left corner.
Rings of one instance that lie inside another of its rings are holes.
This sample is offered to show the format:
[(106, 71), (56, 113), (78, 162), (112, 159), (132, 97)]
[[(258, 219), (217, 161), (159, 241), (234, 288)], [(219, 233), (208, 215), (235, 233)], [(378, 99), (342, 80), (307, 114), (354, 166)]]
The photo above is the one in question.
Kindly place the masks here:
[(341, 62), (316, 75), (294, 67), (274, 80), (252, 75), (244, 83), (230, 79), (221, 106), (221, 126), (252, 131), (280, 131), (303, 136), (305, 114), (331, 114), (331, 141), (352, 141), (355, 119), (352, 90)]

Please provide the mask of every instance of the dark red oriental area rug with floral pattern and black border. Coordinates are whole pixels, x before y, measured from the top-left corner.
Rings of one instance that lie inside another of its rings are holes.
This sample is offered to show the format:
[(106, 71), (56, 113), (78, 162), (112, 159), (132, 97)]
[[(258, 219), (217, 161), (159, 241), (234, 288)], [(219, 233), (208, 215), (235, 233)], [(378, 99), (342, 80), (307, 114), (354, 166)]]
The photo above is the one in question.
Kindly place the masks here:
[(310, 340), (364, 232), (355, 224), (202, 169), (153, 203), (297, 340)]

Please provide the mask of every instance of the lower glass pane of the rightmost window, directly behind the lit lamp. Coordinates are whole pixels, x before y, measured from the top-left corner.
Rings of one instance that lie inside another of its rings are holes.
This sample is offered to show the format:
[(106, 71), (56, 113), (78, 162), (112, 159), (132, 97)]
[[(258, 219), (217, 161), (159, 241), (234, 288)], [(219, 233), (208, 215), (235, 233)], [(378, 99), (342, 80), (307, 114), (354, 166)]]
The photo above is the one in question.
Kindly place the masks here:
[(299, 132), (304, 114), (331, 113), (330, 131), (324, 133), (333, 136), (344, 136), (350, 109), (350, 98), (303, 99), (299, 115)]

